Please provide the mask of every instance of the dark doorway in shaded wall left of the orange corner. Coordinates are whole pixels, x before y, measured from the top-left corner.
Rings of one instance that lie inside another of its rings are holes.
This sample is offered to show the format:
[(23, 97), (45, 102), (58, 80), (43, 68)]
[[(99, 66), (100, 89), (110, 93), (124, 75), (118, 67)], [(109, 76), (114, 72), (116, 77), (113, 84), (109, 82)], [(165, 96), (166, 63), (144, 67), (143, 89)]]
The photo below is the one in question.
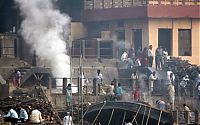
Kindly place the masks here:
[(133, 29), (133, 44), (135, 51), (142, 49), (142, 29)]

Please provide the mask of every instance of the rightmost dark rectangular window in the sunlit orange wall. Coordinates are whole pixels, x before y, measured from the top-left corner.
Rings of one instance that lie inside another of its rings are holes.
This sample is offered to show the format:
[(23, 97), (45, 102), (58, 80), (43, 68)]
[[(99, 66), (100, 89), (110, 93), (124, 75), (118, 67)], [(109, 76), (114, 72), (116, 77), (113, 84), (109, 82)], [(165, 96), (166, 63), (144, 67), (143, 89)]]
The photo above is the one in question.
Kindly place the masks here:
[(190, 29), (179, 29), (178, 30), (178, 53), (179, 53), (179, 56), (191, 56), (192, 55), (191, 30)]

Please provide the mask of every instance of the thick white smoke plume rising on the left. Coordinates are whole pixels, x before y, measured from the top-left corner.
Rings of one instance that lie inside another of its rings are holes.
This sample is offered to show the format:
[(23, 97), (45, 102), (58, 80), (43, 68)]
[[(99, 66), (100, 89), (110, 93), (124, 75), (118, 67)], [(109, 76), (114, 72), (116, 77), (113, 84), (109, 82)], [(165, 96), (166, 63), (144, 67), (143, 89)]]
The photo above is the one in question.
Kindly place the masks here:
[[(70, 77), (70, 58), (64, 34), (70, 18), (55, 9), (52, 0), (15, 0), (23, 21), (21, 34), (36, 50), (36, 55), (47, 61), (54, 77)], [(65, 28), (65, 29), (64, 29)]]

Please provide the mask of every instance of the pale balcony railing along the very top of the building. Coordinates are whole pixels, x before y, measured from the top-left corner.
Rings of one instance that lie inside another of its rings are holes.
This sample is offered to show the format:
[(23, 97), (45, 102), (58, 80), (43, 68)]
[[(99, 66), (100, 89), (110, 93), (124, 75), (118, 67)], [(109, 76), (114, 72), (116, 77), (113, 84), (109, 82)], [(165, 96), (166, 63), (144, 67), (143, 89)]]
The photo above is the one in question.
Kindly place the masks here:
[(84, 9), (125, 8), (141, 5), (198, 5), (200, 0), (85, 0)]

